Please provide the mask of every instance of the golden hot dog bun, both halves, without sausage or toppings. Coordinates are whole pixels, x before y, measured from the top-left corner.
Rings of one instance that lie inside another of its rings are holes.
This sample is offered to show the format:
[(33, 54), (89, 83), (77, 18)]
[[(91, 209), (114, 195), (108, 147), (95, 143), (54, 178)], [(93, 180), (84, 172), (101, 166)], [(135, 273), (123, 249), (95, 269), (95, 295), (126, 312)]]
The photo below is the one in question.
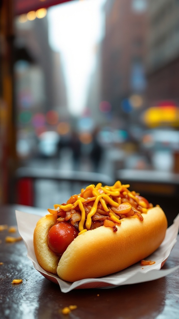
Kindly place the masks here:
[(98, 278), (121, 271), (152, 254), (161, 244), (167, 229), (167, 218), (160, 207), (121, 219), (118, 231), (101, 226), (77, 236), (60, 261), (48, 247), (48, 230), (55, 215), (40, 219), (34, 231), (34, 249), (40, 266), (66, 281)]

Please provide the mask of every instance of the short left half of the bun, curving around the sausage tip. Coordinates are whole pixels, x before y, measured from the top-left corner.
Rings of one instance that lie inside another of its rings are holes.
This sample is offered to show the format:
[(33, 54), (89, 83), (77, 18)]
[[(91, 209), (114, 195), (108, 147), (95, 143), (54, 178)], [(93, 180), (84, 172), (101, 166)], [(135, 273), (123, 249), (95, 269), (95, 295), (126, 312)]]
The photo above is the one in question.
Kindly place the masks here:
[(49, 229), (56, 223), (57, 215), (46, 215), (40, 218), (33, 234), (33, 246), (39, 265), (52, 274), (57, 274), (59, 256), (48, 246)]

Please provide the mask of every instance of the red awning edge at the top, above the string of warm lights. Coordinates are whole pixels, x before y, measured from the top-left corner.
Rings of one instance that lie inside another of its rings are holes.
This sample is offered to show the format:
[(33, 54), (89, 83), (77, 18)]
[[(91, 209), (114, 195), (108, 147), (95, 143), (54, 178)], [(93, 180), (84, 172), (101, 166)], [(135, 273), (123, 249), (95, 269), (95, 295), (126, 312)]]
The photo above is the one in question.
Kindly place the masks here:
[(14, 0), (14, 13), (20, 15), (29, 11), (36, 11), (41, 8), (49, 8), (56, 4), (73, 0)]

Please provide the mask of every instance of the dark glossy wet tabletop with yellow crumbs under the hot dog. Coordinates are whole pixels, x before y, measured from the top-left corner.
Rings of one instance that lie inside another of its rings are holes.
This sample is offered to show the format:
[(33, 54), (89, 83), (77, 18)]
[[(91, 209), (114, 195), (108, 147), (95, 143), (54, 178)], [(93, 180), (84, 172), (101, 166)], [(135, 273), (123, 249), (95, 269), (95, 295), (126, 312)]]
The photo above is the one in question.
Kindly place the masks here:
[[(0, 225), (16, 226), (15, 209), (36, 214), (44, 212), (28, 206), (0, 206)], [(45, 212), (46, 213), (46, 212)], [(78, 289), (62, 293), (57, 284), (44, 278), (26, 256), (23, 241), (5, 243), (8, 230), (0, 231), (0, 318), (158, 318), (179, 317), (179, 269), (150, 282), (111, 289)], [(179, 263), (179, 237), (164, 268)], [(21, 278), (18, 285), (13, 279)], [(69, 315), (61, 309), (77, 305)]]

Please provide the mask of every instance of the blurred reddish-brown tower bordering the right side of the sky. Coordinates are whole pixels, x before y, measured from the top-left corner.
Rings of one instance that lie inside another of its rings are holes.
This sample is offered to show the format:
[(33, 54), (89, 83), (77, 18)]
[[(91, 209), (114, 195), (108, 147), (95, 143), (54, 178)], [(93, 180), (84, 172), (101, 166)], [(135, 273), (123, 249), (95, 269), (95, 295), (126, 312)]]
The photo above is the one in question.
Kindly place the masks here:
[(102, 95), (115, 115), (126, 118), (130, 97), (146, 89), (147, 1), (107, 0), (104, 10)]

